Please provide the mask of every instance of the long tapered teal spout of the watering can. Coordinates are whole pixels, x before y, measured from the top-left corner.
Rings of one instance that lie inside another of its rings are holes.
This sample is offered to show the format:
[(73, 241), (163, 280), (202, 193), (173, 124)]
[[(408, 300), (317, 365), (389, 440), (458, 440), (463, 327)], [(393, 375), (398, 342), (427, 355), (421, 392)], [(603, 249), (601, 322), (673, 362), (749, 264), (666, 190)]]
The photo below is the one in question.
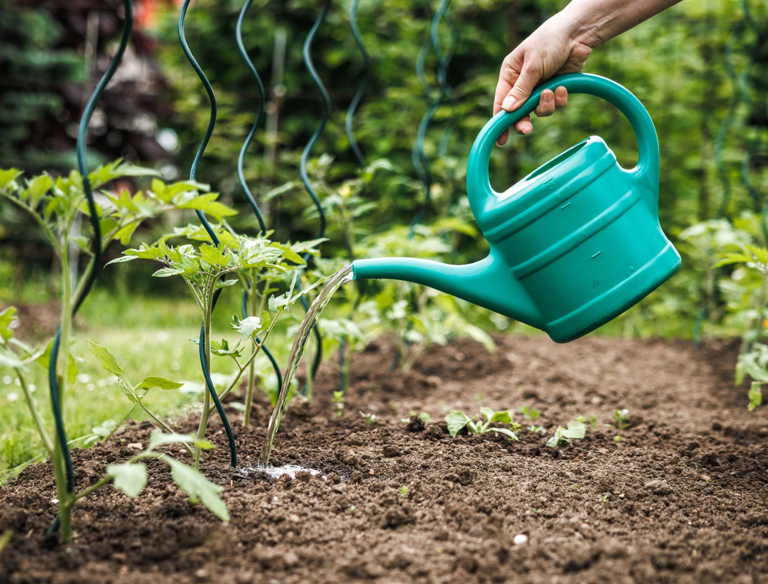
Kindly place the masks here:
[(414, 257), (353, 261), (356, 280), (403, 280), (467, 300), (498, 314), (542, 328), (544, 321), (509, 267), (493, 254), (474, 264), (454, 266)]

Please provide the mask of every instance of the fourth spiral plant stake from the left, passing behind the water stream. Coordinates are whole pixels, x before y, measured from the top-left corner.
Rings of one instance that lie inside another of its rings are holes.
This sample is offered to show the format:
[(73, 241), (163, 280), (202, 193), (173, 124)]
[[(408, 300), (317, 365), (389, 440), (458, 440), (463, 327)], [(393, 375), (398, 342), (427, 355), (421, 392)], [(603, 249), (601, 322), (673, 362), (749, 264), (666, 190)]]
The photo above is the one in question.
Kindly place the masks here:
[[(320, 14), (317, 16), (317, 19), (315, 23), (312, 25), (312, 28), (310, 29), (310, 34), (306, 35), (306, 39), (304, 41), (304, 48), (303, 48), (303, 58), (304, 58), (304, 65), (306, 65), (306, 68), (308, 71), (310, 71), (310, 75), (312, 75), (313, 81), (315, 81), (315, 85), (320, 90), (320, 94), (322, 95), (322, 101), (323, 101), (323, 116), (320, 118), (320, 123), (315, 129), (314, 133), (310, 137), (310, 141), (306, 143), (306, 146), (304, 147), (304, 150), (301, 153), (301, 159), (299, 161), (299, 174), (301, 175), (301, 181), (304, 184), (304, 188), (306, 188), (306, 192), (310, 195), (310, 198), (312, 199), (313, 204), (315, 205), (317, 209), (317, 213), (320, 217), (320, 226), (317, 231), (317, 237), (323, 237), (326, 234), (326, 214), (323, 211), (323, 205), (320, 203), (319, 198), (317, 197), (317, 194), (315, 193), (315, 190), (312, 187), (312, 184), (310, 183), (310, 176), (307, 174), (306, 171), (306, 163), (309, 161), (310, 158), (310, 152), (312, 151), (312, 147), (315, 145), (315, 142), (319, 138), (320, 134), (323, 134), (323, 130), (326, 128), (326, 123), (328, 122), (328, 118), (330, 117), (330, 109), (331, 109), (331, 98), (328, 95), (328, 90), (326, 89), (326, 86), (323, 85), (323, 80), (320, 78), (319, 75), (317, 75), (317, 71), (315, 69), (315, 64), (312, 61), (312, 44), (315, 40), (315, 35), (317, 34), (318, 28), (323, 25), (323, 22), (325, 22), (326, 16), (328, 15), (329, 8), (331, 6), (331, 0), (326, 0), (326, 2), (323, 4), (323, 10), (320, 11)], [(304, 254), (304, 261), (307, 262), (307, 265), (309, 264), (311, 255), (309, 253)], [(300, 289), (300, 282), (296, 282), (296, 286)], [(301, 297), (301, 304), (304, 307), (304, 310), (310, 310), (310, 304), (306, 301), (305, 297)], [(315, 340), (317, 341), (317, 352), (315, 353), (315, 358), (312, 363), (312, 373), (310, 375), (311, 379), (314, 379), (315, 373), (317, 373), (318, 367), (320, 367), (320, 360), (323, 359), (323, 340), (320, 338), (320, 332), (317, 327), (313, 328), (313, 334), (315, 337)], [(306, 393), (307, 391), (307, 385), (305, 385), (302, 389), (302, 393)]]

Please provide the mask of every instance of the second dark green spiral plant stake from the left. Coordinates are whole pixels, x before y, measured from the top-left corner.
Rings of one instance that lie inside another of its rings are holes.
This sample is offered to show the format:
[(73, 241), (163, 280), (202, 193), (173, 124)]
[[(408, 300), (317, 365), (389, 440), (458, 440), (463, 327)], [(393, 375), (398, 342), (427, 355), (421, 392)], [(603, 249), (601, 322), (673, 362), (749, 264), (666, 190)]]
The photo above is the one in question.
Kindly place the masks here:
[[(189, 45), (187, 45), (187, 39), (184, 36), (184, 18), (187, 16), (187, 8), (189, 8), (190, 0), (184, 0), (184, 4), (181, 5), (181, 11), (179, 13), (179, 20), (178, 20), (178, 32), (179, 32), (179, 41), (181, 43), (181, 49), (184, 51), (184, 55), (187, 57), (187, 61), (190, 62), (190, 65), (192, 65), (192, 68), (194, 69), (195, 73), (197, 73), (197, 77), (200, 78), (200, 81), (203, 82), (203, 85), (205, 86), (205, 91), (207, 91), (208, 99), (210, 101), (210, 119), (208, 121), (208, 128), (205, 131), (205, 135), (203, 137), (203, 141), (200, 143), (200, 148), (197, 149), (197, 154), (194, 155), (194, 159), (192, 161), (192, 166), (190, 168), (190, 181), (195, 180), (195, 176), (197, 175), (197, 165), (200, 164), (200, 158), (203, 158), (203, 153), (205, 152), (205, 148), (208, 145), (208, 141), (210, 140), (211, 134), (214, 133), (214, 125), (216, 124), (216, 113), (217, 113), (217, 106), (216, 106), (216, 95), (214, 95), (214, 88), (210, 86), (210, 82), (206, 78), (203, 69), (200, 68), (200, 65), (197, 64), (197, 61), (194, 58), (194, 55), (192, 55), (192, 51), (190, 51)], [(213, 241), (214, 245), (217, 246), (220, 244), (219, 238), (216, 235), (216, 232), (214, 231), (214, 228), (210, 226), (210, 223), (208, 223), (208, 220), (205, 217), (205, 214), (202, 211), (195, 211), (197, 213), (197, 217), (200, 219), (200, 223), (203, 224), (203, 227), (205, 228), (205, 231), (207, 231), (208, 236), (210, 237), (210, 240)], [(221, 288), (219, 290), (216, 290), (214, 292), (214, 296), (211, 300), (211, 307), (210, 311), (213, 312), (214, 308), (216, 307), (216, 303), (219, 300), (219, 296), (221, 294)], [(203, 370), (203, 377), (205, 378), (205, 384), (208, 388), (208, 392), (210, 393), (210, 397), (214, 400), (214, 404), (216, 406), (216, 410), (219, 413), (219, 416), (221, 417), (221, 422), (223, 423), (224, 430), (227, 432), (227, 440), (229, 441), (230, 445), (230, 461), (232, 466), (237, 466), (237, 445), (235, 444), (235, 438), (232, 433), (232, 427), (230, 426), (229, 420), (227, 420), (227, 414), (224, 413), (224, 408), (221, 405), (221, 400), (219, 400), (219, 394), (216, 391), (216, 387), (214, 387), (214, 382), (210, 378), (210, 369), (208, 360), (210, 359), (210, 351), (207, 350), (207, 340), (205, 338), (205, 324), (203, 324), (202, 327), (200, 327), (200, 368)], [(203, 423), (203, 419), (200, 420), (200, 423)]]

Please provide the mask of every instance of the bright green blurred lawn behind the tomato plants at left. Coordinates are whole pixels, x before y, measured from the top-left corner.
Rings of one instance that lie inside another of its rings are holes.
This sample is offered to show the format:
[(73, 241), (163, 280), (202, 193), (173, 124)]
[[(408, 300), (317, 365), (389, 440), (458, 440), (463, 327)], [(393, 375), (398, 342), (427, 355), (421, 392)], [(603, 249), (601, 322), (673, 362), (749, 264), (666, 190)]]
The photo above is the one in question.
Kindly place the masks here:
[[(239, 312), (238, 305), (237, 294), (222, 295), (216, 311), (214, 338), (237, 342), (239, 335), (229, 326), (229, 319)], [(134, 383), (147, 375), (184, 382), (179, 390), (154, 389), (147, 393), (146, 403), (158, 415), (185, 416), (196, 408), (204, 387), (197, 344), (190, 340), (200, 334), (200, 317), (193, 301), (186, 297), (115, 298), (104, 290), (97, 290), (84, 304), (81, 316), (84, 326), (75, 330), (73, 347), (74, 356), (81, 358), (78, 379), (68, 385), (64, 403), (70, 440), (90, 435), (92, 428), (105, 420), (121, 420), (132, 405), (116, 378), (99, 367), (88, 350), (87, 339), (106, 346)], [(284, 360), (287, 347), (283, 330), (276, 330), (270, 339), (273, 340), (270, 348), (277, 349), (273, 352)], [(265, 372), (270, 370), (264, 357), (258, 367)], [(214, 357), (212, 370), (214, 383), (220, 386), (223, 377), (233, 373), (234, 363)], [(30, 367), (26, 379), (30, 387), (35, 388), (39, 410), (52, 429), (47, 370), (37, 365)], [(274, 381), (268, 379), (266, 383)], [(137, 408), (131, 419), (140, 421), (145, 416)], [(43, 450), (18, 380), (10, 370), (0, 371), (0, 483), (14, 476), (19, 470), (16, 467), (41, 455)]]

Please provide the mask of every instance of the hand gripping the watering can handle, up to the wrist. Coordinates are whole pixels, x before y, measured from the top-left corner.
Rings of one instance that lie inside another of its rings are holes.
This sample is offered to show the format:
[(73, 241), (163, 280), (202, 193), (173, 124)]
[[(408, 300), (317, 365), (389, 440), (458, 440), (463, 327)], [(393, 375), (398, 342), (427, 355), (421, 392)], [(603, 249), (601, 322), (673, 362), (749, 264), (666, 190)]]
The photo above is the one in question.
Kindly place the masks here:
[[(525, 41), (504, 59), (498, 74), (498, 85), (493, 100), (493, 114), (504, 109), (515, 111), (531, 95), (540, 81), (554, 75), (578, 73), (584, 68), (592, 48), (576, 40), (570, 26), (561, 15), (555, 15), (535, 30)], [(564, 108), (568, 103), (568, 91), (564, 87), (541, 92), (541, 99), (534, 113), (539, 118)], [(531, 116), (526, 115), (515, 124), (518, 134), (530, 134), (533, 130)], [(505, 131), (496, 142), (499, 146), (507, 143), (509, 131)]]

